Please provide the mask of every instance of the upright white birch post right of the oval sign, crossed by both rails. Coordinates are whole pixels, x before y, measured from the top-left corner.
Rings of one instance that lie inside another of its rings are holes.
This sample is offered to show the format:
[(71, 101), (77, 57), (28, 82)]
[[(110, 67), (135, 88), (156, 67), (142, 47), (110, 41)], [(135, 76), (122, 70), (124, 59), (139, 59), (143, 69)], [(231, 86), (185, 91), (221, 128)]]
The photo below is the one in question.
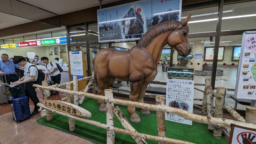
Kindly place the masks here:
[[(105, 97), (107, 98), (113, 98), (113, 90), (106, 89), (104, 90)], [(106, 108), (107, 108), (107, 125), (115, 126), (115, 115), (113, 112), (114, 109), (114, 103), (112, 102), (106, 102)], [(107, 129), (107, 144), (114, 144), (115, 143), (115, 132)]]

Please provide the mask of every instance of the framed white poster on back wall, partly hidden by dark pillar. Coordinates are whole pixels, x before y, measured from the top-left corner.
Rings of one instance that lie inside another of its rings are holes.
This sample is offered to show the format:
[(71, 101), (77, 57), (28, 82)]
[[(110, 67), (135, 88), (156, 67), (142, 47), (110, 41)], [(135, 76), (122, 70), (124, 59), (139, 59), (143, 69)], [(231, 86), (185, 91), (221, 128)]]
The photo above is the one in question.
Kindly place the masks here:
[[(206, 47), (204, 48), (204, 60), (213, 60), (214, 55), (214, 47)], [(218, 60), (223, 60), (224, 56), (224, 47), (219, 47)]]

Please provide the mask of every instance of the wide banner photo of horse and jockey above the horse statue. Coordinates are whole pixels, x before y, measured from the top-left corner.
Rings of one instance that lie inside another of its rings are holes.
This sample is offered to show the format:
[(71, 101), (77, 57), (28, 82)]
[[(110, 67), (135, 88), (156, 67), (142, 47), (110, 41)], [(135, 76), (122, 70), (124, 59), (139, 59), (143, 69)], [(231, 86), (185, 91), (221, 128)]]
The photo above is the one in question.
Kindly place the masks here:
[(99, 42), (140, 39), (158, 23), (181, 21), (181, 0), (142, 0), (97, 10)]

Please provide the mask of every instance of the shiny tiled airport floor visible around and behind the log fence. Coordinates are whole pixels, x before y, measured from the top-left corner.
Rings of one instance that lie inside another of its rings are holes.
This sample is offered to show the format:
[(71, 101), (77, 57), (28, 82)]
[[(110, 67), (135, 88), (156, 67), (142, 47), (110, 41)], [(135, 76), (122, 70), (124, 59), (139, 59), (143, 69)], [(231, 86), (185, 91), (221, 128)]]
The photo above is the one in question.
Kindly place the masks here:
[[(220, 68), (221, 69), (221, 68)], [(228, 68), (223, 69), (224, 75), (216, 77), (216, 84), (219, 85), (229, 85), (234, 86), (236, 83), (236, 69), (237, 68)], [(157, 81), (166, 81), (166, 72), (162, 72), (161, 67), (158, 67), (158, 75), (156, 76)], [(204, 83), (205, 76), (196, 76), (195, 83)], [(222, 80), (225, 79), (225, 80)], [(226, 81), (227, 80), (227, 81)], [(121, 89), (130, 89), (129, 84), (126, 82), (122, 82), (123, 86)], [(151, 86), (163, 86), (163, 85), (154, 85)], [(204, 87), (198, 86), (200, 89), (204, 89)], [(232, 92), (231, 92), (232, 93)], [(51, 97), (52, 100), (60, 100), (65, 97), (65, 93), (61, 93), (58, 95), (54, 95)], [(42, 92), (37, 92), (37, 96), (41, 101), (43, 101)], [(195, 91), (194, 98), (202, 98), (202, 92)], [(230, 105), (234, 106), (234, 101), (226, 99), (226, 102), (230, 103)], [(197, 103), (197, 101), (195, 101)], [(198, 101), (200, 103), (200, 101)], [(30, 111), (32, 112), (34, 109), (33, 102), (30, 100)], [(243, 106), (239, 106), (238, 108), (242, 108)], [(245, 108), (244, 108), (245, 109)], [(38, 118), (41, 117), (41, 113), (33, 116), (32, 119), (25, 120), (20, 124), (17, 124), (14, 120), (12, 120), (11, 107), (9, 104), (0, 105), (0, 126), (1, 126), (1, 134), (0, 134), (0, 143), (1, 144), (59, 144), (59, 143), (84, 143), (91, 144), (92, 142), (85, 140), (80, 137), (76, 137), (74, 135), (70, 135), (65, 132), (61, 132), (59, 130), (53, 129), (51, 127), (46, 127), (40, 124), (35, 123)], [(230, 116), (224, 116), (225, 118), (231, 118)]]

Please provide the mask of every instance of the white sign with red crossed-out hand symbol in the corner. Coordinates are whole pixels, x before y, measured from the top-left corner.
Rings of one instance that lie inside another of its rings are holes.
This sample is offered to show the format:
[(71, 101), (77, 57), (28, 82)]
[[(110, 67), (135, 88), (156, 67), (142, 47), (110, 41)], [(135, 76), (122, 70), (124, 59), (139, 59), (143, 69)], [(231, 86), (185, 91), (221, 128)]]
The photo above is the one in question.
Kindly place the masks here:
[(229, 144), (254, 144), (256, 143), (255, 129), (234, 125), (231, 129)]

